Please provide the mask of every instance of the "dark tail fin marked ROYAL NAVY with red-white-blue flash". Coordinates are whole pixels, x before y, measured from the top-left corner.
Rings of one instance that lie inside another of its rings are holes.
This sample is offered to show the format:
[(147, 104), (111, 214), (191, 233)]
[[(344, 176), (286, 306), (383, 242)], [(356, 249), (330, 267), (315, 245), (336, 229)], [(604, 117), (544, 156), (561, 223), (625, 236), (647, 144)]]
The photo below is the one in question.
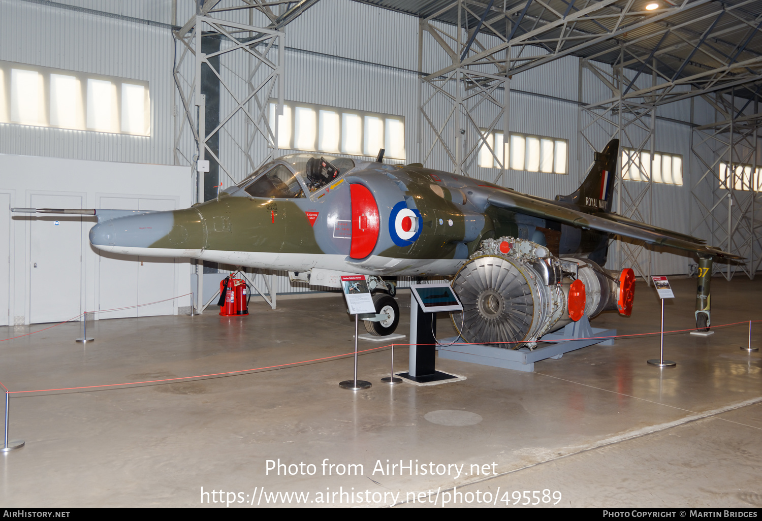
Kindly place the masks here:
[(603, 152), (595, 152), (593, 168), (577, 191), (555, 196), (555, 200), (610, 212), (618, 157), (619, 139), (612, 139)]

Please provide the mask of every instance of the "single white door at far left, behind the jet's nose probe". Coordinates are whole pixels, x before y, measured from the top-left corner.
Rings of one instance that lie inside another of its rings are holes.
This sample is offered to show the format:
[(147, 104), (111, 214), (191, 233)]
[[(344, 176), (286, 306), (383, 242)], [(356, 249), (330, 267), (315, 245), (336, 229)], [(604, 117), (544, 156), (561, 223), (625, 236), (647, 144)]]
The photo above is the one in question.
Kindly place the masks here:
[[(33, 208), (82, 208), (82, 196), (34, 193)], [(37, 215), (30, 219), (32, 324), (74, 318), (82, 312), (82, 217)]]

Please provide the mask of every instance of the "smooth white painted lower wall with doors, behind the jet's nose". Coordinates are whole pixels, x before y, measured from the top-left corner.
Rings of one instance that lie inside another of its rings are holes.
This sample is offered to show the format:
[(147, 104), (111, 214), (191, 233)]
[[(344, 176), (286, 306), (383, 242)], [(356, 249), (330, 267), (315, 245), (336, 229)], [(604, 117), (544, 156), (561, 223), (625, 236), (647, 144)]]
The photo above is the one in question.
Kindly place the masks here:
[[(0, 154), (0, 205), (0, 251), (8, 245), (7, 264), (0, 257), (0, 325), (62, 321), (191, 291), (187, 259), (125, 257), (92, 248), (94, 217), (9, 210), (186, 208), (187, 167)], [(189, 305), (185, 297), (95, 318), (174, 315)]]

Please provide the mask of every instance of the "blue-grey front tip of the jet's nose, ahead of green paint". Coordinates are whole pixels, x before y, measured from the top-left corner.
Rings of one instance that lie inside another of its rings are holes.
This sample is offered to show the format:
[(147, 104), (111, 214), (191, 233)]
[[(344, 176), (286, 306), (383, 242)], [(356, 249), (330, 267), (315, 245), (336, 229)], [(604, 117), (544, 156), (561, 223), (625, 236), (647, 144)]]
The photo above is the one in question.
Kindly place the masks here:
[(127, 253), (124, 248), (149, 248), (168, 235), (172, 212), (145, 213), (99, 222), (90, 230), (91, 244), (100, 250)]

